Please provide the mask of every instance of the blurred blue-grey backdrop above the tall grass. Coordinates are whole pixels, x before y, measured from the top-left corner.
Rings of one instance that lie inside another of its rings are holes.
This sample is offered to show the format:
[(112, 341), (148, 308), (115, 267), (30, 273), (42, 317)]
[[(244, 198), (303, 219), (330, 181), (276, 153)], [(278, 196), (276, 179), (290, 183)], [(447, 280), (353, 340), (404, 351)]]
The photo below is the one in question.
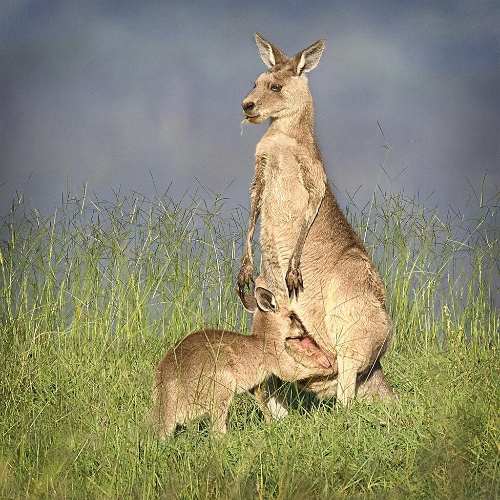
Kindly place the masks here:
[[(497, 2), (477, 0), (3, 1), (0, 215), (21, 191), (48, 213), (66, 183), (154, 196), (151, 176), (174, 198), (201, 183), (248, 208), (267, 126), (241, 133), (266, 70), (254, 31), (288, 55), (326, 40), (308, 78), (341, 205), (378, 182), (462, 209), (469, 182), (486, 199), (500, 186), (498, 25)], [(402, 142), (385, 172), (377, 120)]]

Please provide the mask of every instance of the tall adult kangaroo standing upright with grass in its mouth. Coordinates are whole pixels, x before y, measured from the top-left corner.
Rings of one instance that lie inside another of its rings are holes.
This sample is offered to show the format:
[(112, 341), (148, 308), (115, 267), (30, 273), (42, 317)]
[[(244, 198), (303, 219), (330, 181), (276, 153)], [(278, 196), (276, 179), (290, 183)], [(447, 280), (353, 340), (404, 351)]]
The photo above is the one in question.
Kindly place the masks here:
[[(259, 214), (263, 268), (255, 286), (293, 304), (317, 344), (336, 356), (337, 399), (391, 394), (379, 358), (391, 338), (385, 288), (363, 243), (338, 207), (314, 136), (306, 73), (319, 62), (320, 39), (287, 57), (255, 33), (269, 70), (243, 100), (250, 123), (270, 118), (257, 144), (246, 247), (238, 287), (253, 276), (252, 238)], [(376, 381), (376, 383), (374, 383)], [(364, 386), (364, 387), (363, 387)]]

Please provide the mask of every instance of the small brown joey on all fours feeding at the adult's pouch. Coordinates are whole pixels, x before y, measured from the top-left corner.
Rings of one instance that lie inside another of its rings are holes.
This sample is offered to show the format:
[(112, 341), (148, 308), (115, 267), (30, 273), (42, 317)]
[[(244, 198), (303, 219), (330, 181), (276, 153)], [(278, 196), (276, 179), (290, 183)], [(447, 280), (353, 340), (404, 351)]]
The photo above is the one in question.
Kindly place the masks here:
[[(253, 331), (203, 329), (187, 335), (158, 364), (153, 382), (151, 422), (164, 438), (182, 424), (210, 414), (212, 428), (226, 432), (227, 410), (235, 393), (254, 389), (270, 373), (283, 380), (336, 374), (336, 363), (328, 358), (305, 332), (293, 311), (279, 307), (274, 295), (261, 287), (255, 297), (238, 295), (243, 306), (255, 312)], [(285, 351), (293, 339), (294, 357), (304, 358), (306, 367)], [(301, 353), (301, 355), (300, 355)], [(309, 361), (311, 359), (311, 361)], [(257, 399), (262, 396), (256, 394)]]

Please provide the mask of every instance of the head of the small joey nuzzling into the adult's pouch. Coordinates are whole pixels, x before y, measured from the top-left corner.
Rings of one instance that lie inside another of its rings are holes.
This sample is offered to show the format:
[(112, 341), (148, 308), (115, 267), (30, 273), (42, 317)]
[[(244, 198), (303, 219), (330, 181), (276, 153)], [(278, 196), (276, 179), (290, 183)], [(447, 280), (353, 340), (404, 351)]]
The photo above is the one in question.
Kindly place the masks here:
[(302, 323), (289, 308), (280, 307), (274, 295), (265, 288), (257, 286), (255, 296), (236, 290), (243, 307), (255, 313), (253, 333), (268, 338), (298, 338), (304, 334)]

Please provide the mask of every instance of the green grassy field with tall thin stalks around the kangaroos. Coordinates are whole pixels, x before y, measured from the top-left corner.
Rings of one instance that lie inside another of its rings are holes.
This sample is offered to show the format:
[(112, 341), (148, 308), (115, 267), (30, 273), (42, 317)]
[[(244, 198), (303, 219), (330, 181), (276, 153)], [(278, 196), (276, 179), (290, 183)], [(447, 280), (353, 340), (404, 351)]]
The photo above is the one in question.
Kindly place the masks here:
[[(475, 208), (473, 208), (475, 206)], [(248, 331), (234, 294), (247, 214), (221, 198), (64, 196), (2, 219), (0, 498), (500, 497), (500, 195), (465, 217), (377, 193), (348, 217), (388, 291), (400, 403), (346, 413), (290, 385), (267, 424), (147, 430), (165, 350), (201, 325)], [(495, 303), (496, 301), (496, 303)]]

